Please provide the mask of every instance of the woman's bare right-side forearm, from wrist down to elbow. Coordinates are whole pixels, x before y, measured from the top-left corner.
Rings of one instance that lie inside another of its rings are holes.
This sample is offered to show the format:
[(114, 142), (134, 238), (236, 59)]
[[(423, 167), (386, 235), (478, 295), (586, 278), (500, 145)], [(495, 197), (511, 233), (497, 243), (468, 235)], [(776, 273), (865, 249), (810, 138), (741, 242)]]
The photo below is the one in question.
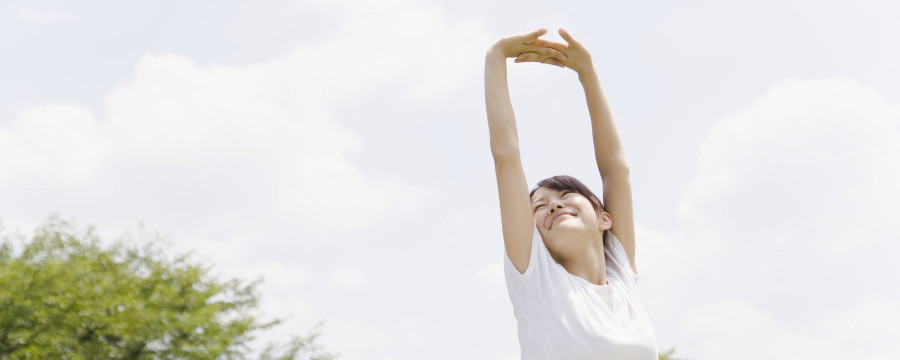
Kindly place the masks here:
[(609, 103), (600, 87), (600, 80), (593, 67), (588, 67), (578, 74), (578, 79), (584, 88), (584, 96), (588, 104), (588, 112), (591, 116), (591, 129), (594, 138), (594, 156), (597, 159), (597, 168), (600, 175), (609, 175), (615, 172), (627, 172), (628, 163), (625, 161), (625, 152), (619, 132), (616, 130)]

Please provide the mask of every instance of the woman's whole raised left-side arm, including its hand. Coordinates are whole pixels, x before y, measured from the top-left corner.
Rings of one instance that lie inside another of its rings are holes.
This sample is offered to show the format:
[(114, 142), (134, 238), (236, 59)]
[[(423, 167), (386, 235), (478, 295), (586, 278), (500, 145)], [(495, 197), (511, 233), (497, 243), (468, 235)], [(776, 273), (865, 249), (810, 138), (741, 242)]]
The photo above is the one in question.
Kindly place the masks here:
[(546, 29), (540, 29), (500, 39), (488, 50), (484, 66), (484, 99), (500, 195), (503, 242), (509, 259), (520, 273), (528, 268), (531, 257), (534, 218), (519, 154), (516, 119), (509, 99), (506, 58), (528, 53), (540, 58), (541, 62), (562, 66), (557, 57), (563, 55), (558, 50), (527, 43), (546, 32)]

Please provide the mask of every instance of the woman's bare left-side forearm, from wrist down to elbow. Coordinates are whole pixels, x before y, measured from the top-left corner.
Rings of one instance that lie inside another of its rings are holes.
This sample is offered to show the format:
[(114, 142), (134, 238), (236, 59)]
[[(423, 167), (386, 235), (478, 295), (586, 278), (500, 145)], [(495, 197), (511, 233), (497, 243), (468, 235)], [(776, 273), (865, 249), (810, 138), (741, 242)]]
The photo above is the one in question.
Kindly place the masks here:
[(491, 47), (484, 64), (484, 100), (494, 157), (519, 153), (519, 136), (506, 76), (506, 57)]

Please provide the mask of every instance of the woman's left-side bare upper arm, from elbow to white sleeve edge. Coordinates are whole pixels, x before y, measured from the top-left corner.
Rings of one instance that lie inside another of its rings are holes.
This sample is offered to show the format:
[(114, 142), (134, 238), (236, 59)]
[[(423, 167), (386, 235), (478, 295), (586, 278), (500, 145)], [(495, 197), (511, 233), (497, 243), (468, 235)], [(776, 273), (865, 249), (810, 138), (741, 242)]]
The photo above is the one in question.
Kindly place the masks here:
[(500, 195), (500, 219), (503, 225), (503, 243), (509, 260), (519, 273), (528, 269), (531, 258), (531, 241), (534, 235), (534, 218), (528, 184), (518, 154), (494, 156), (497, 173), (497, 190)]

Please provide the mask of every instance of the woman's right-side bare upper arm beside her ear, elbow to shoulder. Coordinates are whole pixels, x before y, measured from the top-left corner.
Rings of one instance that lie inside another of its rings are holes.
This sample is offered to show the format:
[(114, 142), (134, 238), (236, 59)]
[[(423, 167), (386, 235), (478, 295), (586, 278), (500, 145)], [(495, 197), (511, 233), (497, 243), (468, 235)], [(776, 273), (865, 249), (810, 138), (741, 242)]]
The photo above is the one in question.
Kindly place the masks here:
[(616, 235), (625, 253), (632, 271), (637, 273), (635, 257), (634, 206), (631, 197), (631, 178), (628, 167), (603, 174), (603, 204), (606, 212), (612, 217), (610, 231)]

